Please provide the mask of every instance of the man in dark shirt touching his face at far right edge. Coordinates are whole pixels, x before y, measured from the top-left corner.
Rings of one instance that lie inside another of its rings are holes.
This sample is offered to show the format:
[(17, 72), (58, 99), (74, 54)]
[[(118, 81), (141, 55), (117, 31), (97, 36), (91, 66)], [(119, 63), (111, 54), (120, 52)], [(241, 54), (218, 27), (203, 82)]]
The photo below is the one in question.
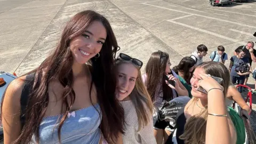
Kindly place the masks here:
[[(234, 51), (234, 55), (237, 55), (237, 50), (242, 49), (245, 53), (244, 57), (249, 59), (250, 66), (252, 66), (252, 61), (256, 62), (256, 50), (253, 49), (253, 47), (254, 47), (253, 42), (251, 42), (251, 41), (247, 42), (246, 45), (238, 46), (237, 49)], [(245, 76), (245, 81), (244, 81), (243, 85), (246, 85), (249, 76), (250, 76), (250, 74)]]

